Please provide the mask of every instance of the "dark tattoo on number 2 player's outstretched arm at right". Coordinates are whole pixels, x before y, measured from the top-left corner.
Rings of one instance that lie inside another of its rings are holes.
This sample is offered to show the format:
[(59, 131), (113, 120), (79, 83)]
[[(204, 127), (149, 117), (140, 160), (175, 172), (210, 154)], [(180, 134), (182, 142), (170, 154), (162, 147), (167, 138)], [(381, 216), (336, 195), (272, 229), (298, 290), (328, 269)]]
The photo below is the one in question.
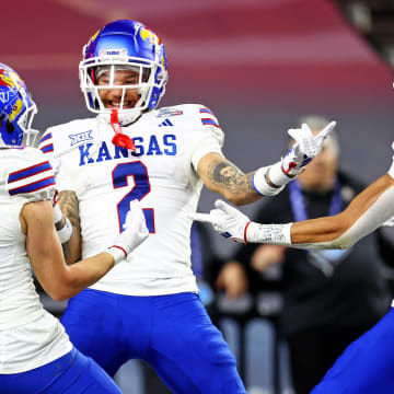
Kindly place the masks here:
[(254, 192), (253, 173), (244, 174), (236, 165), (228, 160), (213, 160), (208, 169), (209, 179), (218, 185), (225, 186), (231, 193)]

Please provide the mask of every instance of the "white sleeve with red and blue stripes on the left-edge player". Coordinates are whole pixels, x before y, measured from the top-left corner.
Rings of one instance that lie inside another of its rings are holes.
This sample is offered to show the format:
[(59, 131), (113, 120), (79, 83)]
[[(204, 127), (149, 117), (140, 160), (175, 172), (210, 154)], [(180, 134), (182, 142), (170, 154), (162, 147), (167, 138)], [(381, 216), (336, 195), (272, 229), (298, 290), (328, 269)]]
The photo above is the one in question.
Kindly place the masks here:
[(53, 199), (56, 182), (48, 159), (35, 148), (21, 150), (8, 173), (7, 189), (10, 196), (23, 197), (28, 202)]

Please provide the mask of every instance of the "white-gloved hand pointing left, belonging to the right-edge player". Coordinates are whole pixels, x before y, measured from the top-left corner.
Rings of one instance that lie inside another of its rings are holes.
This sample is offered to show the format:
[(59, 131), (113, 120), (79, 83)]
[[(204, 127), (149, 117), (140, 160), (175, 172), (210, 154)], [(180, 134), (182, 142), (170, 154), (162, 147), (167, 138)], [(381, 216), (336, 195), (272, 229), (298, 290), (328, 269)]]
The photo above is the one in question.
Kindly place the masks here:
[(222, 200), (216, 200), (209, 213), (192, 213), (190, 219), (211, 223), (213, 230), (234, 242), (246, 243), (246, 227), (251, 222), (246, 215)]

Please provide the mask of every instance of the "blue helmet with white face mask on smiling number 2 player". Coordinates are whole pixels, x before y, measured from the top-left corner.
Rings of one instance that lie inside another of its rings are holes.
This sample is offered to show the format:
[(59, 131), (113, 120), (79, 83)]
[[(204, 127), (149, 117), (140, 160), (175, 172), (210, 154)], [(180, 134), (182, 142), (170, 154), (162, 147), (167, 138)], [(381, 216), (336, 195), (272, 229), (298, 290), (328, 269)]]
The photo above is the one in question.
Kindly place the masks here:
[[(154, 109), (165, 92), (167, 63), (164, 46), (160, 38), (142, 23), (120, 20), (96, 32), (83, 47), (83, 59), (79, 73), (81, 90), (88, 109), (104, 114), (107, 119), (112, 109), (106, 108), (100, 97), (103, 89), (121, 89), (121, 100), (116, 108), (120, 125), (137, 119), (144, 111)], [(137, 78), (127, 84), (115, 84), (117, 70), (134, 70)], [(97, 79), (106, 72), (106, 83)], [(126, 107), (127, 89), (137, 89), (140, 99), (132, 108)]]

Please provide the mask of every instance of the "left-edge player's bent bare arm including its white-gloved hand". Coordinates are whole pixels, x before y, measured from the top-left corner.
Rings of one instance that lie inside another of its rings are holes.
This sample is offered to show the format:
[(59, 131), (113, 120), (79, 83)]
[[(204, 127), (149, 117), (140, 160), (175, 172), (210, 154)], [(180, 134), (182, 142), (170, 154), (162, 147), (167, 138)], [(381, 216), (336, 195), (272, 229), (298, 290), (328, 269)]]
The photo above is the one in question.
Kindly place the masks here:
[(138, 201), (130, 204), (127, 230), (117, 236), (113, 246), (71, 266), (65, 262), (60, 240), (54, 227), (51, 201), (26, 204), (20, 217), (26, 235), (26, 252), (43, 289), (55, 300), (62, 301), (95, 283), (115, 264), (127, 258), (149, 234)]

